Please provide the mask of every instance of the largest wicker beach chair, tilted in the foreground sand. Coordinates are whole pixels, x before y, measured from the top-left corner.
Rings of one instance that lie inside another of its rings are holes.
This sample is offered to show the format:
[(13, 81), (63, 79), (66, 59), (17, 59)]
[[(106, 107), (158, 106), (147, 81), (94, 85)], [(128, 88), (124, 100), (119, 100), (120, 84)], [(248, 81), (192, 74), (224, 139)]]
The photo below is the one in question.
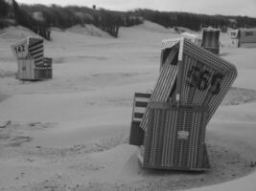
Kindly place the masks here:
[(234, 65), (190, 40), (164, 40), (160, 75), (144, 114), (140, 114), (141, 122), (136, 125), (137, 130), (144, 131), (143, 139), (136, 140), (143, 142), (139, 155), (142, 166), (208, 169), (206, 125), (236, 76)]

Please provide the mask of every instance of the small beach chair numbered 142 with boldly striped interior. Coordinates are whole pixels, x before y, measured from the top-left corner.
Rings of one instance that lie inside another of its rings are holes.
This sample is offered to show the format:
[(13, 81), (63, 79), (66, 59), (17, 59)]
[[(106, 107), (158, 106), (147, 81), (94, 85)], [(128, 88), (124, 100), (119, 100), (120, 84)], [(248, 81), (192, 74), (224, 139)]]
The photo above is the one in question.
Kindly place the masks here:
[(53, 77), (52, 58), (44, 57), (44, 40), (28, 36), (12, 45), (17, 58), (17, 75), (20, 80), (42, 80)]

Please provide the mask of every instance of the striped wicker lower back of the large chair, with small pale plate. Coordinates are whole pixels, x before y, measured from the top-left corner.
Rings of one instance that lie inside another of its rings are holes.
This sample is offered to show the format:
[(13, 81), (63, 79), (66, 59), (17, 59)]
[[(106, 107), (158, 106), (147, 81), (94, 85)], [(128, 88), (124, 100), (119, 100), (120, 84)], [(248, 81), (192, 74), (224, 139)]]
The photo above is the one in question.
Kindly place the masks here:
[(152, 103), (144, 144), (145, 167), (202, 170), (206, 114), (205, 108)]

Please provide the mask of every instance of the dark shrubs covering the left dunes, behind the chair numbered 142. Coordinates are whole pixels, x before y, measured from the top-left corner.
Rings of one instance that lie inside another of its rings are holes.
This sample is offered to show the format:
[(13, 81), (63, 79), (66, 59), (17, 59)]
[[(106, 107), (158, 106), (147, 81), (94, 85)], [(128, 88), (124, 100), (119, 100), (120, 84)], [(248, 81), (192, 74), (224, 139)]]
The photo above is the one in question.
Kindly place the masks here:
[(12, 18), (16, 24), (29, 28), (46, 39), (50, 39), (51, 27), (65, 30), (74, 25), (93, 24), (110, 35), (118, 37), (121, 26), (128, 27), (142, 23), (141, 19), (134, 18), (128, 13), (103, 9), (57, 5), (47, 7), (39, 4), (19, 6), (14, 0), (10, 3), (0, 0), (0, 6), (0, 29), (9, 25), (4, 22), (7, 18)]

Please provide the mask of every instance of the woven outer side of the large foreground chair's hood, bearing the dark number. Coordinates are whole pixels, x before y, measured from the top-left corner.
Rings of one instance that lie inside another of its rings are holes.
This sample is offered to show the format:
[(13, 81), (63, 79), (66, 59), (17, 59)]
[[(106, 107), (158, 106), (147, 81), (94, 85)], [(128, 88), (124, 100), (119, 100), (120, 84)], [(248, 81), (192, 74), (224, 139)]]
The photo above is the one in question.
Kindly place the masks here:
[(182, 63), (180, 104), (209, 108), (209, 121), (235, 80), (236, 67), (186, 40)]

